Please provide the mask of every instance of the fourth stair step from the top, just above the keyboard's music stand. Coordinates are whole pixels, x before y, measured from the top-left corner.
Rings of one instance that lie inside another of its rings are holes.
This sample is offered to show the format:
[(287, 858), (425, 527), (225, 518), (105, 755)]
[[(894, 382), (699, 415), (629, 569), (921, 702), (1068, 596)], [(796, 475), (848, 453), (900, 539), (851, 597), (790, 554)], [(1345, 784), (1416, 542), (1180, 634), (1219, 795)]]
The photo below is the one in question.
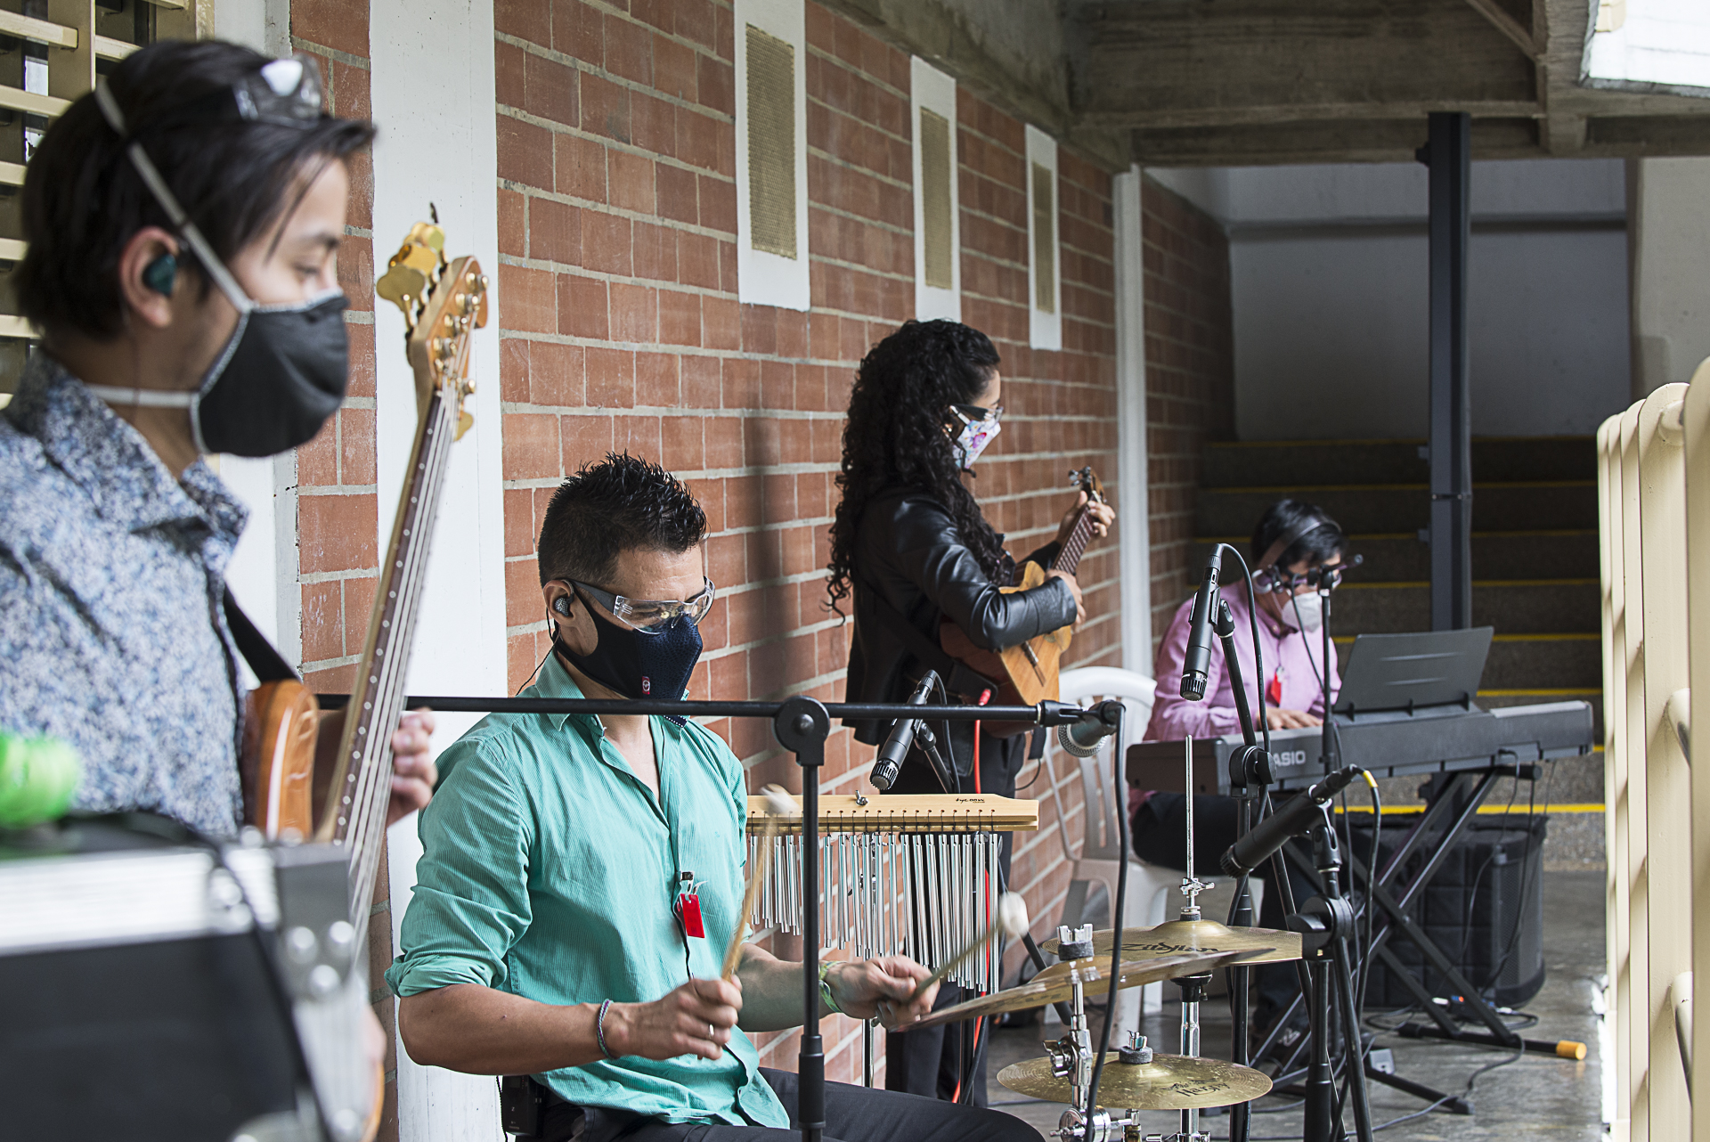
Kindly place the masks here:
[[(1595, 633), (1597, 580), (1486, 580), (1472, 585), (1472, 624), (1498, 634)], [(1431, 629), (1430, 583), (1346, 583), (1336, 593), (1337, 634)]]

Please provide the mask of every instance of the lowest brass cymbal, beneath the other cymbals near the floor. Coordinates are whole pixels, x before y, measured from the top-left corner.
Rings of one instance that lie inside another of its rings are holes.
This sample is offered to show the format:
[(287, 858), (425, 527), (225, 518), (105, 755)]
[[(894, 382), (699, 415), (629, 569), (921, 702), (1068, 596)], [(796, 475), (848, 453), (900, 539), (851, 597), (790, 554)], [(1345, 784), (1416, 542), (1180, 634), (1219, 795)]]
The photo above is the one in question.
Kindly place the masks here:
[[(1117, 1062), (1117, 1051), (1105, 1055), (1105, 1072), (1098, 1079), (1100, 1106), (1120, 1110), (1200, 1110), (1233, 1106), (1269, 1094), (1271, 1079), (1252, 1067), (1221, 1058), (1153, 1055), (1149, 1063)], [(1070, 1099), (1069, 1079), (1052, 1074), (1052, 1060), (1029, 1058), (1004, 1067), (997, 1080), (1016, 1094), (1048, 1103)]]

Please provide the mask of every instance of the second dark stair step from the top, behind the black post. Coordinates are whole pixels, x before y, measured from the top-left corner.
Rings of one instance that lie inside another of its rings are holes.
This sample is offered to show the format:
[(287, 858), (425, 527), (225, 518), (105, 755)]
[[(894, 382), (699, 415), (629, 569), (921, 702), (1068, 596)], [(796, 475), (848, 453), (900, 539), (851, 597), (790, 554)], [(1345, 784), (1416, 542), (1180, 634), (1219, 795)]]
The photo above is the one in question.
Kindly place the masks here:
[[(1474, 486), (1477, 532), (1583, 530), (1597, 527), (1594, 480), (1537, 480)], [(1284, 496), (1327, 511), (1344, 532), (1406, 533), (1426, 527), (1431, 497), (1424, 484), (1200, 489), (1197, 535), (1250, 535), (1253, 521)]]

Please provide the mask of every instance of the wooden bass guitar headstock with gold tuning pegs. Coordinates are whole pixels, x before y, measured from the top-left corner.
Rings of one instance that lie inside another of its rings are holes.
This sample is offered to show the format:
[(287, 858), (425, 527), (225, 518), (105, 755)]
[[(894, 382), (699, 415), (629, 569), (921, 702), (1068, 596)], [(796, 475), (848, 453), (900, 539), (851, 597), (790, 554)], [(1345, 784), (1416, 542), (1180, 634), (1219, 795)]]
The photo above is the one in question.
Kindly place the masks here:
[(463, 398), (469, 380), (469, 335), (487, 323), (487, 277), (470, 256), (448, 262), (445, 231), (431, 222), (410, 227), (392, 255), (374, 292), (404, 311), (405, 350), (416, 371), (416, 398), (439, 391), (457, 402), (462, 436), (472, 424)]

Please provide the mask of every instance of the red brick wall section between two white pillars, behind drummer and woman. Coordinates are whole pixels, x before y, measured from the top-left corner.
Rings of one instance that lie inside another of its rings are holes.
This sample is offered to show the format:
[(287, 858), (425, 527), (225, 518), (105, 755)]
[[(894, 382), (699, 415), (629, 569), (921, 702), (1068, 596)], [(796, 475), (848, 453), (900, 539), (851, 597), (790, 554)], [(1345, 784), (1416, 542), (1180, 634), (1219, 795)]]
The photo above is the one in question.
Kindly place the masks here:
[[(566, 472), (628, 448), (684, 475), (711, 521), (720, 605), (691, 694), (840, 699), (846, 636), (823, 609), (823, 566), (843, 410), (855, 364), (913, 309), (908, 55), (807, 5), (812, 309), (799, 313), (735, 296), (728, 5), (499, 0), (496, 24), (511, 684), (547, 650), (545, 501)], [(1026, 552), (1067, 506), (1070, 460), (1115, 477), (1110, 178), (1064, 154), (1065, 349), (1035, 354), (1023, 125), (968, 94), (959, 120), (964, 318), (1005, 373), (1005, 433), (978, 494)], [(1098, 619), (1077, 662), (1117, 662), (1115, 578), (1115, 545), (1082, 564)], [(768, 727), (713, 728), (756, 786), (799, 788)], [(824, 788), (864, 786), (870, 754), (836, 732)], [(1053, 853), (1047, 833), (1017, 853), (1038, 916), (1064, 891)], [(824, 1034), (829, 1074), (855, 1079), (858, 1026), (829, 1019)], [(768, 1065), (793, 1067), (797, 1036), (759, 1041)]]

